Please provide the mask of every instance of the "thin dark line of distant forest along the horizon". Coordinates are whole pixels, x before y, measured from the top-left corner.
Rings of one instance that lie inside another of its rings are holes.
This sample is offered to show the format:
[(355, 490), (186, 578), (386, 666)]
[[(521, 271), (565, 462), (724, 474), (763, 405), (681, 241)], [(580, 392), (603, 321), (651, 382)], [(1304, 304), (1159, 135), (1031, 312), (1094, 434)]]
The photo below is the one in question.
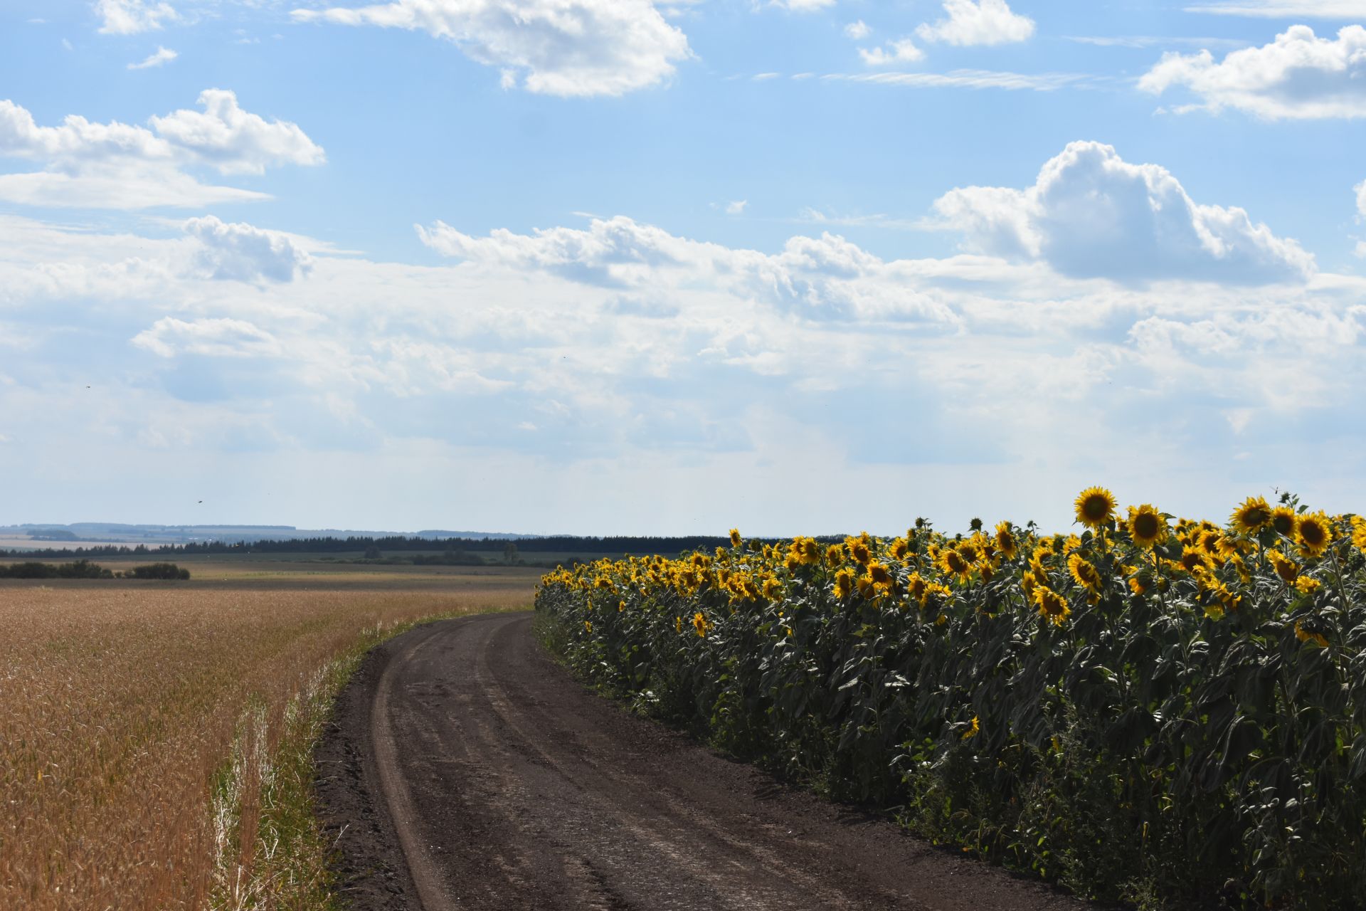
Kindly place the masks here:
[(5, 557), (119, 557), (119, 556), (209, 556), (209, 555), (246, 555), (246, 553), (348, 553), (374, 552), (403, 553), (403, 552), (432, 552), (445, 550), (455, 553), (505, 553), (508, 544), (516, 545), (516, 552), (531, 556), (537, 553), (582, 553), (582, 555), (678, 555), (697, 548), (729, 546), (729, 538), (717, 537), (608, 537), (608, 538), (578, 538), (572, 535), (559, 535), (550, 538), (419, 538), (407, 535), (388, 537), (346, 537), (346, 538), (290, 538), (284, 541), (191, 541), (189, 544), (167, 544), (148, 546), (139, 544), (126, 545), (94, 545), (89, 548), (63, 548), (44, 550), (0, 550)]

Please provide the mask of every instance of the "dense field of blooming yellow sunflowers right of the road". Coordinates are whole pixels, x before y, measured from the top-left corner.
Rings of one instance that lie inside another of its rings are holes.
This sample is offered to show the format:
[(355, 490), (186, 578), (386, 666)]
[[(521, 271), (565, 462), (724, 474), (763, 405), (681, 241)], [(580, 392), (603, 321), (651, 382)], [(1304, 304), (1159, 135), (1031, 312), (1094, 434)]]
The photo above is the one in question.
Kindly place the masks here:
[(1366, 907), (1366, 520), (743, 541), (546, 575), (579, 675), (911, 830), (1142, 907)]

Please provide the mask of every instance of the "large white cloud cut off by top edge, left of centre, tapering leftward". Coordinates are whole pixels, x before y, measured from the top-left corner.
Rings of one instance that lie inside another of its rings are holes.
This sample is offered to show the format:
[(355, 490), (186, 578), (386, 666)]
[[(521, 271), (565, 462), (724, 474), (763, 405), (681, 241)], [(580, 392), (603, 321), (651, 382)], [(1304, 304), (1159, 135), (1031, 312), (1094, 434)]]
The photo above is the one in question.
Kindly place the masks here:
[(503, 85), (553, 96), (619, 96), (658, 85), (691, 56), (649, 0), (396, 0), (295, 10), (299, 22), (419, 29), (503, 71)]

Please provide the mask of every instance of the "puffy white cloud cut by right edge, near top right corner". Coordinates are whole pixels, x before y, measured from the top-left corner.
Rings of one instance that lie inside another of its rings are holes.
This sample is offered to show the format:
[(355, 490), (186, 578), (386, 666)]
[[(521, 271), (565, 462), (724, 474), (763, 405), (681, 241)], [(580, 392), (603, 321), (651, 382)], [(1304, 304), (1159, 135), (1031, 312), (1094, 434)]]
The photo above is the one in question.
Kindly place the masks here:
[(1209, 51), (1165, 53), (1138, 87), (1153, 94), (1183, 86), (1203, 108), (1246, 111), (1268, 120), (1366, 116), (1366, 29), (1347, 26), (1320, 38), (1291, 26), (1273, 44), (1214, 60)]

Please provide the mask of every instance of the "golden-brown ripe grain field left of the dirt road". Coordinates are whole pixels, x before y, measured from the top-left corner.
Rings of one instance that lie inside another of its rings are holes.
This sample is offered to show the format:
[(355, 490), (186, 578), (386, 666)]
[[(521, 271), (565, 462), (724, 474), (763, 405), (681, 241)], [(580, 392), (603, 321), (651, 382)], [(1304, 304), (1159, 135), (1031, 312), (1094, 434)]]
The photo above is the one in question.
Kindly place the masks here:
[(529, 605), (534, 574), (291, 582), (0, 587), (0, 907), (253, 904), (224, 870), (253, 881), (262, 770), (339, 658), (377, 627)]

